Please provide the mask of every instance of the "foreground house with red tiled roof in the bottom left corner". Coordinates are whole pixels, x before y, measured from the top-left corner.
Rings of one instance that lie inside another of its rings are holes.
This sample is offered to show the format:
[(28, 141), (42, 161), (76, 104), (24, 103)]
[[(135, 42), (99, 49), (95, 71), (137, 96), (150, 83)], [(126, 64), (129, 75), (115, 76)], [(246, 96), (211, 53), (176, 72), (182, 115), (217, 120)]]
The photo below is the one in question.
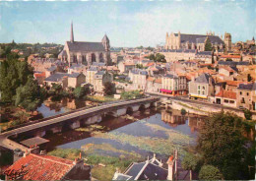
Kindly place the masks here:
[(8, 167), (6, 180), (90, 180), (91, 166), (80, 157), (75, 161), (25, 153), (25, 156)]

